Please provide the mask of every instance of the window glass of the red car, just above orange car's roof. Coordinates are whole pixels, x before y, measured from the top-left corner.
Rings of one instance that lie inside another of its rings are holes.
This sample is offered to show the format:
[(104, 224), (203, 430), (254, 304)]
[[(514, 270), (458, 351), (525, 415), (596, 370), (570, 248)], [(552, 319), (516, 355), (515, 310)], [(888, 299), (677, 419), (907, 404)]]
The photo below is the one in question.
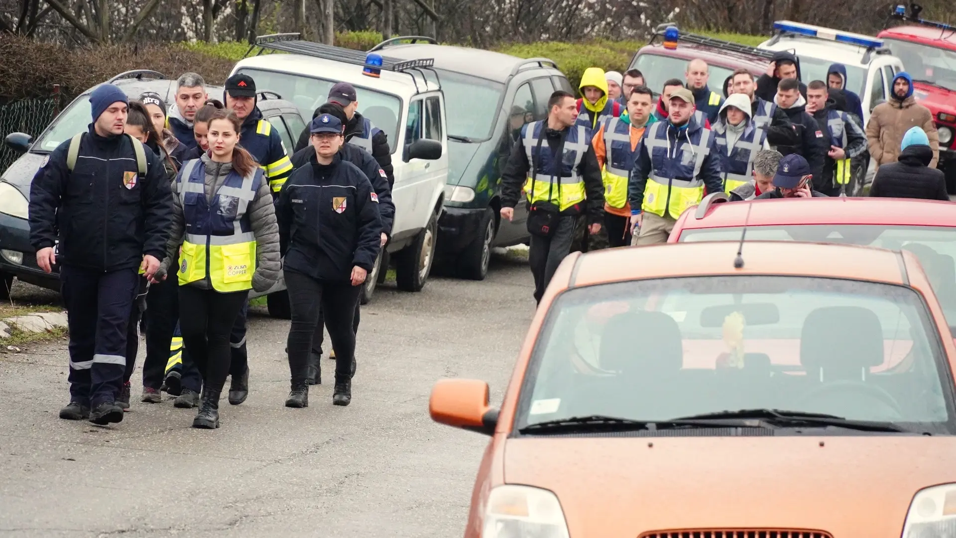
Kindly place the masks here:
[[(736, 241), (742, 228), (684, 230), (680, 241)], [(956, 328), (956, 228), (889, 225), (748, 226), (748, 241), (811, 241), (912, 252), (929, 278), (946, 320)]]

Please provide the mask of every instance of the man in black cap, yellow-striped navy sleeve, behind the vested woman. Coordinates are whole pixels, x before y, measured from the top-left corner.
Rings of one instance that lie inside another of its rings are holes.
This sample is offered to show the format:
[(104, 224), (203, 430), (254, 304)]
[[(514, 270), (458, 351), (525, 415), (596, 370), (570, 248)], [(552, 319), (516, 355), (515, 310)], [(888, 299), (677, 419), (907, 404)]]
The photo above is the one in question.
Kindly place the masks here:
[[(255, 105), (255, 80), (249, 75), (237, 73), (226, 80), (223, 93), (226, 107), (231, 108), (243, 122), (239, 132), (239, 144), (250, 152), (259, 165), (266, 168), (272, 196), (278, 197), (279, 191), (293, 171), (293, 162), (286, 153), (279, 132), (272, 128), (272, 123), (262, 118), (262, 112)], [(232, 334), (229, 335), (229, 345), (232, 347), (229, 403), (232, 405), (241, 404), (249, 396), (249, 353), (246, 349), (248, 308), (248, 305), (243, 306), (232, 327)]]

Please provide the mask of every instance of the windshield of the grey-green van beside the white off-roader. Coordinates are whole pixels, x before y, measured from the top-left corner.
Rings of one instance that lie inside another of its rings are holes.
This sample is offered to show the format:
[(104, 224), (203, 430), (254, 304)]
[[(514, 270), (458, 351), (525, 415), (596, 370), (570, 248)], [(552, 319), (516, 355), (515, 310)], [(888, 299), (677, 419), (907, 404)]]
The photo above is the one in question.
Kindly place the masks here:
[(445, 94), (448, 138), (483, 142), (491, 138), (498, 120), (505, 85), (488, 78), (436, 69)]

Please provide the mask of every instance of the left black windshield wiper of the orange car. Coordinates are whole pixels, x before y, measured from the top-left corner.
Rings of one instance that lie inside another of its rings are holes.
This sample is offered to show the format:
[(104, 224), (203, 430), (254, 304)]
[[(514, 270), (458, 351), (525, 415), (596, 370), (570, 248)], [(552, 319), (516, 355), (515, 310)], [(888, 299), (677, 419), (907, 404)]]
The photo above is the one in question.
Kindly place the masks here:
[(741, 428), (766, 427), (763, 424), (752, 425), (744, 420), (720, 419), (673, 419), (673, 420), (633, 420), (618, 416), (589, 415), (571, 416), (529, 424), (518, 430), (519, 434), (565, 434), (581, 432), (633, 432), (637, 430), (673, 430), (677, 428)]

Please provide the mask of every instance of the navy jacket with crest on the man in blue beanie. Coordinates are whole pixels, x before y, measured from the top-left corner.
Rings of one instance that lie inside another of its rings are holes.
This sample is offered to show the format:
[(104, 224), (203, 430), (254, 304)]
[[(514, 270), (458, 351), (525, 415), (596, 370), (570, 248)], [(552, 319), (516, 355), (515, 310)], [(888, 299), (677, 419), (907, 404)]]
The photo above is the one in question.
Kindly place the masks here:
[(163, 259), (173, 199), (156, 153), (145, 151), (141, 177), (126, 135), (104, 138), (91, 124), (73, 172), (66, 164), (69, 147), (70, 139), (56, 146), (33, 176), (33, 248), (52, 247), (59, 238), (57, 263), (97, 271), (139, 267), (147, 254)]

